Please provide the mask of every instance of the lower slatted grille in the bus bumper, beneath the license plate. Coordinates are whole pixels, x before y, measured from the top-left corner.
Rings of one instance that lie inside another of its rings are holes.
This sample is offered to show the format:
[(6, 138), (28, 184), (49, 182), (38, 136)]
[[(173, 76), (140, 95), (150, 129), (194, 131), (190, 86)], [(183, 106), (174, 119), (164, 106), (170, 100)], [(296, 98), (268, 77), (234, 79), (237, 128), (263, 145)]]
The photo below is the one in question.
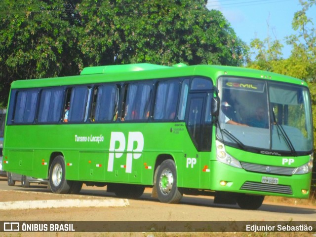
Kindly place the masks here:
[(291, 186), (287, 185), (275, 185), (266, 183), (256, 183), (246, 181), (240, 189), (251, 191), (262, 191), (269, 193), (281, 193), (281, 194), (293, 194)]

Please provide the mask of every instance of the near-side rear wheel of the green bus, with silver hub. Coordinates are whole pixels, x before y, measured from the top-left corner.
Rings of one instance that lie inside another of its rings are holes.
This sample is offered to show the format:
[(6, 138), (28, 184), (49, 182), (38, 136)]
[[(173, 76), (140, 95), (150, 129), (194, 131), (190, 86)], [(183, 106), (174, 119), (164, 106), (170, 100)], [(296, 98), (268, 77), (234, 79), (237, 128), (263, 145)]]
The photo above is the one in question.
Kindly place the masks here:
[(49, 186), (53, 193), (68, 194), (71, 181), (66, 180), (66, 166), (63, 156), (56, 156), (49, 169)]

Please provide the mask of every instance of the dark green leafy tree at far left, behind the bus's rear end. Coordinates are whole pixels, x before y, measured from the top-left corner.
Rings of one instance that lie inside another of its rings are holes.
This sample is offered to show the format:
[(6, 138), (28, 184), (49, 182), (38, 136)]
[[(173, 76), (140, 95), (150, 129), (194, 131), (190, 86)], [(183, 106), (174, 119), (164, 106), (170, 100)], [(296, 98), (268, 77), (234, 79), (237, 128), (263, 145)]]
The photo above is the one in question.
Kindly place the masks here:
[(74, 1), (0, 1), (0, 102), (13, 80), (79, 71), (80, 52), (69, 12)]

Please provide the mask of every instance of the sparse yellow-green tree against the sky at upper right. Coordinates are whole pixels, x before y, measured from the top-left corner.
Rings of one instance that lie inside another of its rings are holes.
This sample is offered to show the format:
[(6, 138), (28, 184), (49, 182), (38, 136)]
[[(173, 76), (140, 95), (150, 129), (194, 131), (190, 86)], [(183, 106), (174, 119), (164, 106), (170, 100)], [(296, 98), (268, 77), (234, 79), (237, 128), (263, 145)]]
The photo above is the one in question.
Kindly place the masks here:
[(292, 28), (297, 33), (287, 36), (286, 43), (292, 46), (288, 59), (282, 58), (282, 45), (279, 40), (268, 37), (264, 40), (255, 38), (250, 48), (255, 56), (247, 67), (273, 71), (307, 82), (316, 79), (316, 30), (313, 28), (313, 19), (307, 16), (309, 8), (316, 4), (316, 0), (300, 0), (302, 10), (294, 14)]

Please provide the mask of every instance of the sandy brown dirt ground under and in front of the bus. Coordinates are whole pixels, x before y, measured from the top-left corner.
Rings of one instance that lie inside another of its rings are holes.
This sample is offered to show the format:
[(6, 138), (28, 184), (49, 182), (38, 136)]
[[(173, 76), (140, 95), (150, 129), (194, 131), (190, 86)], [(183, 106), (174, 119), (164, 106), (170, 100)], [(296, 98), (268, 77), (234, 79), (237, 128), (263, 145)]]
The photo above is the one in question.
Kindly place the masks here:
[[(52, 194), (46, 186), (29, 189), (0, 190), (1, 202), (60, 199), (116, 199), (105, 188), (84, 186), (80, 195)], [(236, 206), (212, 204), (210, 197), (184, 198), (180, 204), (160, 203), (151, 198), (146, 189), (141, 200), (129, 200), (129, 206), (120, 207), (72, 207), (2, 211), (0, 221), (302, 221), (316, 219), (316, 207), (293, 203), (264, 202), (257, 211), (241, 210)], [(290, 201), (292, 202), (292, 201)], [(1, 205), (1, 203), (0, 203)], [(308, 219), (307, 219), (308, 218)], [(258, 235), (257, 235), (258, 234)], [(272, 233), (270, 237), (285, 237), (286, 233)], [(260, 237), (260, 233), (0, 233), (0, 237)], [(290, 235), (312, 237), (312, 234)]]

